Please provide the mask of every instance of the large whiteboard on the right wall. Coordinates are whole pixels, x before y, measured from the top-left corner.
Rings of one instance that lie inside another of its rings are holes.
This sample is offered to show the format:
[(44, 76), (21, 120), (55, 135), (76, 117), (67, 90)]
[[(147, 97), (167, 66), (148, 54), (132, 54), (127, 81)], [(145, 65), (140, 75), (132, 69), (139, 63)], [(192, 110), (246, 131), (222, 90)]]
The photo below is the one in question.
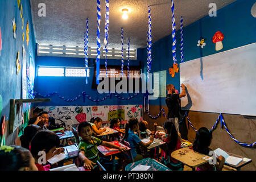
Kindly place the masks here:
[(256, 115), (256, 43), (180, 64), (183, 110)]

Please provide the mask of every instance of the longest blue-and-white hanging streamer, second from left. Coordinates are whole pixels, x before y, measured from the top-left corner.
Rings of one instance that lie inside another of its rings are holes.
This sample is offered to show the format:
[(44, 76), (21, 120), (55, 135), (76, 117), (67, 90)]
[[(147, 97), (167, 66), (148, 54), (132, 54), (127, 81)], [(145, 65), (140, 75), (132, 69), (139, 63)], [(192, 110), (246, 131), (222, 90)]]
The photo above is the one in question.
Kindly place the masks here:
[(96, 57), (96, 84), (100, 84), (100, 57), (101, 57), (101, 40), (100, 40), (100, 23), (101, 23), (101, 2), (97, 0), (97, 57)]

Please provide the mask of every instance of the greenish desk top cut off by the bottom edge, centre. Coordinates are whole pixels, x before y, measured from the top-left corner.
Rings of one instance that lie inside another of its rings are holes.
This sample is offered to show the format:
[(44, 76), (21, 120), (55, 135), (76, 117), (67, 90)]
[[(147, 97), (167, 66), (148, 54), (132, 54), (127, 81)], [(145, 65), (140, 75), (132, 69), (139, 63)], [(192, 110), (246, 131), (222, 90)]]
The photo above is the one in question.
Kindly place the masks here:
[(164, 166), (164, 164), (161, 164), (155, 159), (150, 159), (150, 158), (138, 160), (137, 162), (128, 164), (125, 167), (125, 171), (132, 171), (138, 165), (150, 166), (150, 168), (148, 168), (147, 171), (171, 171), (171, 169)]

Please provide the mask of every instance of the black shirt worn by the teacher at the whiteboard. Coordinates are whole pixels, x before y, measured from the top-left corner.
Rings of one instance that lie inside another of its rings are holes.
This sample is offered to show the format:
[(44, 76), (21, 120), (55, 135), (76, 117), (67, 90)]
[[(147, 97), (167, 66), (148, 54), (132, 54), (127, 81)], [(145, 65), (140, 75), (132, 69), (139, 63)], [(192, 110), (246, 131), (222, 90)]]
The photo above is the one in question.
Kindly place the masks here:
[(179, 96), (180, 94), (167, 94), (166, 105), (168, 107), (168, 119), (179, 116)]

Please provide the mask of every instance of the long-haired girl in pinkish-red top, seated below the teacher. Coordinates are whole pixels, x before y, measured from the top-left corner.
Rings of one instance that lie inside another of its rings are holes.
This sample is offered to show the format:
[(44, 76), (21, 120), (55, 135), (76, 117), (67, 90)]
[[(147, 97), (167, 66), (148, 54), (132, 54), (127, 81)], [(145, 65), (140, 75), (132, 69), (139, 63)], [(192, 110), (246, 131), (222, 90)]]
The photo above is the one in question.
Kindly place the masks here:
[[(171, 157), (171, 153), (173, 151), (181, 148), (181, 142), (179, 139), (179, 135), (177, 134), (176, 127), (174, 123), (166, 121), (163, 124), (163, 128), (166, 135), (162, 136), (162, 140), (166, 142), (167, 145), (161, 147), (164, 153), (162, 163), (172, 170), (183, 171), (183, 164)], [(156, 135), (158, 138), (160, 138), (160, 135), (158, 133)]]

